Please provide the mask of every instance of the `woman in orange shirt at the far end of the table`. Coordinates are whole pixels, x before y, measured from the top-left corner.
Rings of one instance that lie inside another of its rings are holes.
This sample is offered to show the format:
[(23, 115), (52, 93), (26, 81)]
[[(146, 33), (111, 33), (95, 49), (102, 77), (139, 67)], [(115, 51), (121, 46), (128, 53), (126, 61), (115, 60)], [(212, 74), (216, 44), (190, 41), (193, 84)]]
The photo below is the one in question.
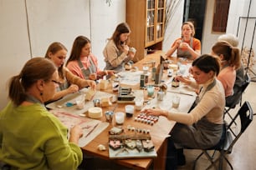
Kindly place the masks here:
[(167, 57), (171, 57), (177, 50), (177, 57), (185, 57), (194, 60), (201, 54), (201, 42), (194, 37), (195, 28), (193, 23), (182, 23), (182, 37), (177, 38), (172, 43), (172, 47), (166, 52)]

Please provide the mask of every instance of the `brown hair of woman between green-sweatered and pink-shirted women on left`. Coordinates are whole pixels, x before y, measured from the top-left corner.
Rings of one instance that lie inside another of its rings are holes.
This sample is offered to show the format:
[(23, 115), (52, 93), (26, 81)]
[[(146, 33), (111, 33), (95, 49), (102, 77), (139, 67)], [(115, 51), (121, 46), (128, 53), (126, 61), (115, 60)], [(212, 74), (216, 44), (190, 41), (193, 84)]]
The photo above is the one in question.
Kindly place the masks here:
[[(59, 52), (59, 50), (65, 50), (66, 52), (68, 52), (67, 48), (64, 47), (64, 45), (60, 42), (53, 42), (49, 45), (44, 57), (49, 58), (49, 52), (52, 52), (52, 54), (55, 54), (56, 52)], [(63, 64), (64, 65), (64, 64)], [(63, 65), (61, 65), (58, 68), (58, 72), (59, 72), (59, 77), (64, 78), (64, 72), (63, 72)]]

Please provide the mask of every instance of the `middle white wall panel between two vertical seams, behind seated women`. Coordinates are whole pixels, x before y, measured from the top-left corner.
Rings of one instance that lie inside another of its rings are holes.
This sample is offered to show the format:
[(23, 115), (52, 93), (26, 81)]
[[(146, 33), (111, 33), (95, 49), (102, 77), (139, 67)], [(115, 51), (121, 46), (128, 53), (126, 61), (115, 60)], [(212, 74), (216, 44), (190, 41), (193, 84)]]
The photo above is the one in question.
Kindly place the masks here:
[(33, 57), (44, 56), (52, 42), (62, 42), (70, 51), (75, 37), (90, 37), (89, 2), (27, 0)]

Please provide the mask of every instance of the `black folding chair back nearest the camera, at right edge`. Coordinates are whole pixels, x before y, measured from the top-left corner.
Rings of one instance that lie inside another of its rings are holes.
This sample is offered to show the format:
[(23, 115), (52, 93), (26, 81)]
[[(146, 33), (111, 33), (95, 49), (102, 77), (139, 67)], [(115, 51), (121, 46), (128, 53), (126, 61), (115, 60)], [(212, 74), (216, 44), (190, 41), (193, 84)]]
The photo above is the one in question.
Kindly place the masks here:
[[(239, 122), (240, 123), (236, 123)], [(228, 124), (228, 131), (226, 134), (226, 141), (224, 151), (230, 150), (238, 138), (248, 128), (248, 125), (253, 121), (253, 109), (248, 101), (243, 102), (242, 107), (239, 108), (238, 113), (233, 117), (232, 121)], [(233, 128), (235, 127), (235, 128)]]

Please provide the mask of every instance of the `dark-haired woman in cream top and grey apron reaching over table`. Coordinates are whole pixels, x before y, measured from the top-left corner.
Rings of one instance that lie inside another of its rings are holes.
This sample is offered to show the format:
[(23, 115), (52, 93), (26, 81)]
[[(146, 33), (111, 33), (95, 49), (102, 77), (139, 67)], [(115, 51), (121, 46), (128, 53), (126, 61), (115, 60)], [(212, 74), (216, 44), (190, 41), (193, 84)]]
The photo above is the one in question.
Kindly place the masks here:
[(182, 148), (210, 148), (220, 141), (223, 134), (225, 96), (223, 85), (217, 79), (219, 69), (218, 57), (205, 54), (192, 62), (194, 80), (182, 76), (175, 77), (191, 87), (201, 89), (196, 106), (189, 114), (159, 108), (141, 111), (177, 122), (168, 141), (166, 169), (175, 169), (177, 164), (186, 163)]

